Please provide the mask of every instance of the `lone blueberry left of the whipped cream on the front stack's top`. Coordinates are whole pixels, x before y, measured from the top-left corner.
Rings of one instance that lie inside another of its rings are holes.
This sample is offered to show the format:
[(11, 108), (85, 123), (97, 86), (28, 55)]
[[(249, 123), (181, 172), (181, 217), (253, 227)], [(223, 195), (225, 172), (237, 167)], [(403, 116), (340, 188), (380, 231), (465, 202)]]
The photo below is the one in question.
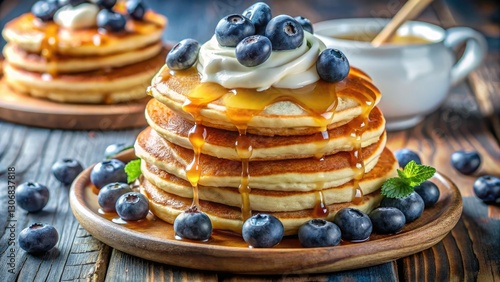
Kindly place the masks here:
[(168, 52), (167, 66), (171, 70), (185, 70), (192, 67), (198, 59), (200, 44), (198, 41), (187, 38), (179, 43)]

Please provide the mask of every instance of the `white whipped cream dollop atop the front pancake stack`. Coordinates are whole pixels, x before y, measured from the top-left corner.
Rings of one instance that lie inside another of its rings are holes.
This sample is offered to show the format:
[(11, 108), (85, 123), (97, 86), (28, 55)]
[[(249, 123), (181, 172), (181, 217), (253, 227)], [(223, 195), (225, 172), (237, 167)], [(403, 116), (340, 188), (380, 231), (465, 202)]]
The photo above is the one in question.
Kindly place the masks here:
[(304, 42), (293, 50), (272, 51), (262, 64), (246, 67), (236, 59), (235, 48), (223, 47), (213, 36), (202, 45), (197, 69), (202, 82), (226, 88), (300, 88), (318, 81), (316, 60), (326, 47), (314, 35), (304, 32)]

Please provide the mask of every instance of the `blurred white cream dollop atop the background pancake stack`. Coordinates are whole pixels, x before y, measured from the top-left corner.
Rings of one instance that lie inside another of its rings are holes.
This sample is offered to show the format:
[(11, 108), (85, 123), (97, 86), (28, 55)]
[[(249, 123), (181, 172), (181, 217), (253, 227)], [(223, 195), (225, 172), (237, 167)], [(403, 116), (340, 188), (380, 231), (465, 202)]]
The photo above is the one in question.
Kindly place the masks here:
[(54, 21), (68, 29), (84, 29), (97, 26), (97, 14), (99, 6), (91, 3), (83, 3), (72, 7), (66, 5), (61, 7), (54, 15)]

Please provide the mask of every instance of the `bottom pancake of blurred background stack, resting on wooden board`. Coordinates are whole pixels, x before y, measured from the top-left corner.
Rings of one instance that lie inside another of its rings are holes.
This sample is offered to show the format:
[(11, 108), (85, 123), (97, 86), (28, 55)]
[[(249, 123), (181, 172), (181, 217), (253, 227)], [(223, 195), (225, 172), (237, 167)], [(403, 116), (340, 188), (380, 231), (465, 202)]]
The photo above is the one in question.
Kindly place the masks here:
[(135, 64), (107, 70), (51, 76), (4, 63), (6, 83), (15, 91), (58, 102), (113, 104), (146, 96), (152, 70), (168, 53)]

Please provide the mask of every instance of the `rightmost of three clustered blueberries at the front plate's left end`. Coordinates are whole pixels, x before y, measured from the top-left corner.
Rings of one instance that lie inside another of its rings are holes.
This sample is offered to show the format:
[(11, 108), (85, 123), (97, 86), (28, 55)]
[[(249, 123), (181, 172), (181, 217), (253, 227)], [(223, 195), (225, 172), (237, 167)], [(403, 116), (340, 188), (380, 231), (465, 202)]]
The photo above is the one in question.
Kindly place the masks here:
[(128, 192), (118, 198), (115, 209), (121, 219), (137, 221), (146, 218), (149, 213), (149, 203), (141, 193)]

